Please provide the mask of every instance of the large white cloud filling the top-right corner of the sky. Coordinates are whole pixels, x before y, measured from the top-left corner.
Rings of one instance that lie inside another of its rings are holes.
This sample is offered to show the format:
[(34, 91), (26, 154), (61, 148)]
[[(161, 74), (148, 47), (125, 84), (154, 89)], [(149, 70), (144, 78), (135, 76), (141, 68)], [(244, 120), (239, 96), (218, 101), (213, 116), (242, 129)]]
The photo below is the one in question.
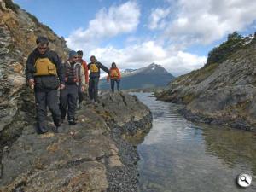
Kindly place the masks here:
[(179, 0), (175, 6), (175, 17), (165, 19), (164, 34), (176, 43), (211, 44), (256, 20), (256, 1), (251, 0)]

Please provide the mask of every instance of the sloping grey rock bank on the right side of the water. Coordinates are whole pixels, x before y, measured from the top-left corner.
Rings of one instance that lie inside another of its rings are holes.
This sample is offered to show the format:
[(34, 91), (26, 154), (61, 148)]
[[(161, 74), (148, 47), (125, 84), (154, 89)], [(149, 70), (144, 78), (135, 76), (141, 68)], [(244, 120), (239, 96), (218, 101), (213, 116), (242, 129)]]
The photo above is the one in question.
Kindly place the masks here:
[(183, 103), (187, 119), (256, 130), (256, 44), (253, 40), (222, 63), (178, 77), (160, 100)]

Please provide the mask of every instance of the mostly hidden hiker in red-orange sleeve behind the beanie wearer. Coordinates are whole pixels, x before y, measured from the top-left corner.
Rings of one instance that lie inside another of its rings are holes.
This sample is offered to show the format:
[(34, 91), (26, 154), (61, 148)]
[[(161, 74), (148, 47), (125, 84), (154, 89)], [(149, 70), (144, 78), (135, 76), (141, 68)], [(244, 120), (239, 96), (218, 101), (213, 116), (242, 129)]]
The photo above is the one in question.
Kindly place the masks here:
[[(87, 63), (86, 63), (86, 61), (83, 60), (83, 55), (84, 55), (83, 51), (78, 50), (77, 53), (78, 53), (79, 62), (81, 63), (81, 66), (84, 68), (84, 76), (85, 76), (84, 92), (87, 92), (88, 83), (89, 83), (89, 74), (88, 74)], [(82, 108), (82, 102), (84, 100), (84, 92), (81, 91), (81, 84), (79, 84), (79, 105), (78, 105), (78, 109)]]

